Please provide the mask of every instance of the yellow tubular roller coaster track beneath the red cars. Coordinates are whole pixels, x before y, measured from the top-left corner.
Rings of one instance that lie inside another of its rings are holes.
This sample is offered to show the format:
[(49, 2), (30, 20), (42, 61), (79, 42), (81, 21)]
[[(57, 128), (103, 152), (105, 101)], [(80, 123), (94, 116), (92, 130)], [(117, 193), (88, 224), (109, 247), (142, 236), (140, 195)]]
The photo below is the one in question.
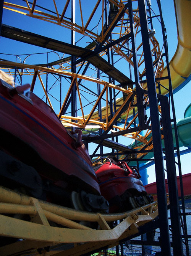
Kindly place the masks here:
[[(0, 235), (15, 238), (12, 243), (0, 247), (2, 256), (90, 253), (136, 235), (140, 226), (158, 215), (157, 201), (124, 213), (88, 213), (40, 201), (4, 187), (0, 187), (0, 201)], [(115, 227), (111, 227), (113, 221), (118, 223)]]

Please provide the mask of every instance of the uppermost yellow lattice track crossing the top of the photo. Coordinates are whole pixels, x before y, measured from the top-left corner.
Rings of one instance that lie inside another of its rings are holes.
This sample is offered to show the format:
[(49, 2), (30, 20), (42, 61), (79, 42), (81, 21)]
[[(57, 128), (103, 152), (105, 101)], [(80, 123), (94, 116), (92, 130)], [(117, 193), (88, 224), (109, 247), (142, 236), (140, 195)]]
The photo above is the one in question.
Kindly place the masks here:
[[(89, 12), (89, 15), (86, 12), (86, 6), (84, 3), (79, 0), (79, 12), (78, 12), (78, 22), (71, 22), (71, 19), (66, 18), (66, 13), (70, 12), (70, 0), (67, 0), (65, 6), (59, 6), (54, 0), (52, 1), (52, 6), (49, 5), (49, 10), (43, 7), (40, 7), (36, 3), (37, 1), (33, 1), (31, 5), (30, 2), (26, 1), (23, 5), (17, 5), (13, 3), (4, 2), (4, 8), (7, 10), (11, 10), (13, 12), (20, 13), (22, 15), (26, 15), (28, 17), (36, 18), (42, 21), (48, 21), (50, 23), (62, 26), (64, 28), (68, 28), (73, 30), (83, 36), (90, 37), (92, 39), (92, 43), (84, 48), (86, 50), (86, 59), (89, 55), (88, 50), (96, 49), (96, 41), (101, 43), (101, 46), (105, 46), (104, 49), (100, 48), (99, 51), (95, 50), (96, 54), (100, 54), (100, 56), (104, 56), (108, 47), (128, 61), (133, 66), (133, 54), (132, 51), (127, 55), (128, 48), (125, 46), (130, 37), (130, 25), (128, 23), (128, 9), (126, 1), (117, 1), (110, 0), (110, 24), (107, 25), (105, 21), (105, 7), (104, 0), (94, 1), (92, 3), (91, 8), (92, 12)], [(51, 8), (51, 7), (52, 8)], [(44, 12), (42, 12), (43, 10)], [(59, 14), (62, 13), (62, 14)], [(134, 10), (134, 27), (136, 36), (140, 35), (140, 21), (139, 21), (139, 10), (136, 8)], [(95, 17), (100, 17), (100, 22), (95, 24)], [(86, 20), (86, 24), (85, 24)], [(93, 27), (93, 29), (91, 29)], [(100, 31), (100, 33), (97, 33)], [(112, 41), (108, 40), (110, 33), (112, 32)], [(81, 39), (80, 39), (81, 40)], [(163, 71), (163, 61), (160, 59), (160, 48), (159, 43), (153, 36), (151, 38), (152, 45), (152, 54), (156, 55), (154, 67), (157, 67), (158, 62), (160, 63), (156, 72), (156, 77), (160, 77)], [(111, 51), (110, 49), (110, 51)], [(55, 49), (54, 49), (55, 50)], [(138, 65), (144, 63), (143, 51), (142, 51), (142, 41), (137, 47), (138, 54), (140, 55)], [(95, 54), (94, 53), (94, 54)], [(78, 56), (78, 54), (76, 55)], [(84, 57), (84, 56), (83, 56)], [(66, 60), (68, 61), (68, 59)], [(68, 65), (68, 62), (67, 62)], [(145, 69), (142, 70), (140, 76), (144, 76)]]

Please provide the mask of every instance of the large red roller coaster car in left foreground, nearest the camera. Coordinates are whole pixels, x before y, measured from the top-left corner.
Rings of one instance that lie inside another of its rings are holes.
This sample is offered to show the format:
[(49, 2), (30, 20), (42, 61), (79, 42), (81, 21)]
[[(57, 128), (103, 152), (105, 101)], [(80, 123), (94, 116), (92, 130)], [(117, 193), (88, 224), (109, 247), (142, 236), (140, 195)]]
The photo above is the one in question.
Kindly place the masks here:
[(0, 185), (87, 211), (108, 211), (81, 130), (71, 134), (30, 85), (0, 79)]

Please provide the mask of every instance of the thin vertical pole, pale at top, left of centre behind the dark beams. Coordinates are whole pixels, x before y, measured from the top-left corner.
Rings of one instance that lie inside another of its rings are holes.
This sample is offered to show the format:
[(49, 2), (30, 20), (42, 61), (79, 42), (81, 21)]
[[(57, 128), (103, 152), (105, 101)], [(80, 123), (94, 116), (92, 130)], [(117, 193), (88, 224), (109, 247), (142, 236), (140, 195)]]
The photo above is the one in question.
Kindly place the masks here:
[[(75, 0), (71, 1), (71, 22), (75, 23)], [(71, 30), (71, 45), (75, 45), (75, 31)], [(71, 56), (71, 72), (76, 73), (76, 56)], [(76, 84), (71, 92), (71, 116), (76, 116), (77, 106), (76, 106)]]

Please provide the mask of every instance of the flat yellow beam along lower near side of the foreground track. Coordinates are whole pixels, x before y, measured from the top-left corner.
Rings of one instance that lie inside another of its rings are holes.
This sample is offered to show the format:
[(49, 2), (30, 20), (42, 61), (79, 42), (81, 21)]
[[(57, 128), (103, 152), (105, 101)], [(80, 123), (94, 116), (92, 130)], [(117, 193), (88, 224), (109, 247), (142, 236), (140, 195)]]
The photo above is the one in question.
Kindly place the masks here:
[(127, 217), (113, 230), (55, 228), (0, 215), (0, 235), (53, 243), (86, 243), (118, 239), (133, 223)]

